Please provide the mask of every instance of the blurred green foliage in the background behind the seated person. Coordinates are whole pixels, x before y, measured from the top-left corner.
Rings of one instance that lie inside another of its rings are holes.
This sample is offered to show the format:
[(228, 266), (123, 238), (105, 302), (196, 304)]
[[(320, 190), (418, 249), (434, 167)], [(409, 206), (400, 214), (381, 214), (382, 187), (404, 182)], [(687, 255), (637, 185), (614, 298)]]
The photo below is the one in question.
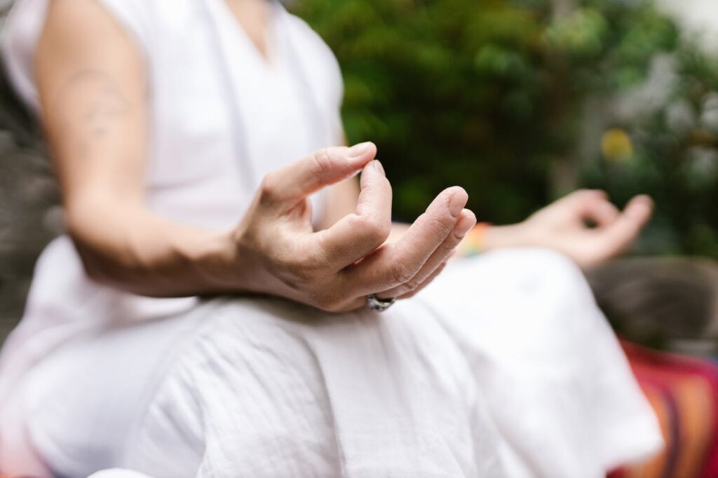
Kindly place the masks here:
[(652, 250), (718, 256), (718, 64), (651, 1), (295, 9), (340, 60), (348, 139), (378, 143), (398, 218), (462, 184), (480, 219), (515, 222), (587, 184), (656, 197)]

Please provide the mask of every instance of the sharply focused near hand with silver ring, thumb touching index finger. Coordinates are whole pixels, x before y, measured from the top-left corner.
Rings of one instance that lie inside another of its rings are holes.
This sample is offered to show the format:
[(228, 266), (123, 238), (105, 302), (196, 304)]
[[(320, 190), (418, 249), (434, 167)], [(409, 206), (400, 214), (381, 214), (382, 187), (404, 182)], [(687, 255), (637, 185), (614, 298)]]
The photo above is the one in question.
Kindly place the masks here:
[[(229, 280), (326, 311), (359, 309), (368, 294), (401, 299), (432, 281), (475, 225), (467, 194), (444, 190), (401, 240), (385, 244), (391, 185), (375, 156), (371, 143), (327, 148), (269, 173), (230, 233)], [(315, 232), (308, 196), (359, 171), (356, 211)]]

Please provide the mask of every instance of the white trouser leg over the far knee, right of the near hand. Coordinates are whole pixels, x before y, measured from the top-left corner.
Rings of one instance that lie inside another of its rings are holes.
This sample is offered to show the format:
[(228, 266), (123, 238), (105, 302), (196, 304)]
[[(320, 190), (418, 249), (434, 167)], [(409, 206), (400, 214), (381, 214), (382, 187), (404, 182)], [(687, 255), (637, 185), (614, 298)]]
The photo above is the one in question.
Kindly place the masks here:
[(568, 258), (522, 249), (456, 261), (419, 300), (465, 352), (527, 477), (605, 477), (661, 450), (655, 413)]

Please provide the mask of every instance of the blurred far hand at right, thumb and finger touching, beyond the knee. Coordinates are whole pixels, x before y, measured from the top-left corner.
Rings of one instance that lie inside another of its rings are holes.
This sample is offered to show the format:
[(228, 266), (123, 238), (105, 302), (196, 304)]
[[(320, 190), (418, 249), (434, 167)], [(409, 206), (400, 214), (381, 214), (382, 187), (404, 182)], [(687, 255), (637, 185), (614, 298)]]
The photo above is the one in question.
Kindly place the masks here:
[[(634, 197), (623, 211), (603, 191), (579, 190), (525, 221), (486, 232), (486, 248), (532, 246), (558, 250), (589, 268), (622, 253), (651, 218), (650, 197)], [(587, 225), (587, 222), (592, 225)]]

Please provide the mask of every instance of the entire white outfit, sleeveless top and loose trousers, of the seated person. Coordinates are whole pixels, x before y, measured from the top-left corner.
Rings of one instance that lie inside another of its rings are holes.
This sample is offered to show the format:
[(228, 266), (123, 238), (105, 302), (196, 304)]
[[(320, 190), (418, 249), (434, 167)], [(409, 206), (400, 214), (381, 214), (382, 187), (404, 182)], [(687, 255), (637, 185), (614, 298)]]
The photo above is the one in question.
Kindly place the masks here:
[[(266, 172), (340, 144), (337, 62), (281, 6), (266, 62), (223, 0), (98, 1), (146, 59), (151, 210), (229, 228)], [(37, 113), (46, 7), (19, 0), (3, 43)], [(0, 356), (0, 469), (41, 478), (602, 478), (661, 444), (582, 274), (546, 250), (457, 260), (386, 313), (332, 315), (126, 294), (63, 236)]]

